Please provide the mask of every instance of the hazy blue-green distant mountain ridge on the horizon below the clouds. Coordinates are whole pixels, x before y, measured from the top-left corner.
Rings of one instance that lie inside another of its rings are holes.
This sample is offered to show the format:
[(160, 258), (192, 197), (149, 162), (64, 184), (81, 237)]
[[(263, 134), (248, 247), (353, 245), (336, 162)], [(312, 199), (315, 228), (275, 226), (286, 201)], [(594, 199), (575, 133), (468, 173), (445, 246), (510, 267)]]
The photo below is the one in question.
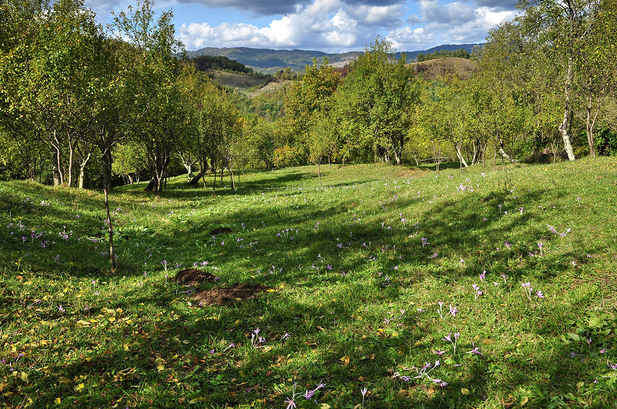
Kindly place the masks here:
[[(458, 50), (465, 49), (468, 52), (473, 51), (473, 47), (481, 44), (444, 44), (429, 48), (428, 50), (407, 51), (407, 62), (415, 61), (418, 54), (429, 54), (439, 50)], [(343, 52), (341, 54), (328, 54), (323, 51), (307, 51), (307, 50), (273, 50), (267, 48), (249, 48), (249, 47), (232, 47), (232, 48), (217, 48), (205, 47), (197, 51), (187, 51), (189, 57), (197, 57), (199, 55), (223, 55), (228, 59), (236, 60), (239, 63), (253, 68), (255, 71), (271, 74), (278, 70), (283, 70), (285, 67), (290, 67), (293, 71), (304, 71), (304, 66), (312, 64), (313, 58), (321, 61), (323, 57), (328, 57), (328, 62), (336, 67), (342, 67), (349, 62), (357, 59), (362, 55), (362, 51)], [(399, 59), (403, 52), (397, 52), (396, 58)]]

